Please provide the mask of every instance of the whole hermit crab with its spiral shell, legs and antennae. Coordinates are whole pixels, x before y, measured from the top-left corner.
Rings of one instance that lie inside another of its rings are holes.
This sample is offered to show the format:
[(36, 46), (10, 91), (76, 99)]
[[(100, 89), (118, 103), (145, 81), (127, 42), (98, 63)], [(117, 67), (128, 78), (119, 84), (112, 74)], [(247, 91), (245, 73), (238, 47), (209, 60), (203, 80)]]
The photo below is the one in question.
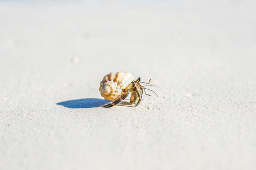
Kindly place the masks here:
[[(150, 79), (151, 80), (151, 79)], [(149, 84), (150, 80), (148, 81)], [(104, 107), (113, 107), (119, 104), (122, 100), (124, 100), (129, 93), (131, 92), (130, 103), (138, 106), (142, 99), (143, 90), (145, 91), (147, 88), (145, 86), (141, 86), (140, 78), (134, 80), (134, 75), (128, 72), (111, 72), (100, 82), (100, 94), (106, 100), (113, 100), (110, 104), (104, 105)], [(154, 86), (154, 85), (146, 85), (146, 86)], [(150, 89), (147, 89), (150, 90)], [(153, 90), (150, 90), (153, 91)], [(153, 91), (154, 92), (154, 91)], [(155, 93), (155, 92), (154, 92)], [(156, 94), (156, 93), (155, 93)], [(146, 94), (150, 96), (149, 94)], [(157, 95), (156, 95), (157, 96)]]

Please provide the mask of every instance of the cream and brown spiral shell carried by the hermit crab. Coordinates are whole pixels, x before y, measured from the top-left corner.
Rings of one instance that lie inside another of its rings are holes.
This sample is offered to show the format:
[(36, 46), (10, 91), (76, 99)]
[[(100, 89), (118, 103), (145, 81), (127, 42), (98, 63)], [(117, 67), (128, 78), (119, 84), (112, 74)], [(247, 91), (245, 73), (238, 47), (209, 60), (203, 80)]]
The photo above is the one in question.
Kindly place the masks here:
[(133, 80), (132, 73), (111, 72), (100, 82), (100, 94), (106, 100), (115, 100)]

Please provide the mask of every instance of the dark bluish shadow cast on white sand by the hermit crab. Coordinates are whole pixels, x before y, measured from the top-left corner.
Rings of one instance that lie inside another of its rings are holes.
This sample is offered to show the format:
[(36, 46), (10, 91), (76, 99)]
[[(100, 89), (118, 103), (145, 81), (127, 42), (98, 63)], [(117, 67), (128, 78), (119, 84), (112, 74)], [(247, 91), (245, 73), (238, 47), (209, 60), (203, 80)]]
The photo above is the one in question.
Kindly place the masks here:
[(61, 105), (68, 108), (93, 108), (93, 107), (101, 107), (110, 102), (111, 100), (85, 98), (85, 99), (62, 101), (60, 103), (57, 103), (57, 105)]

